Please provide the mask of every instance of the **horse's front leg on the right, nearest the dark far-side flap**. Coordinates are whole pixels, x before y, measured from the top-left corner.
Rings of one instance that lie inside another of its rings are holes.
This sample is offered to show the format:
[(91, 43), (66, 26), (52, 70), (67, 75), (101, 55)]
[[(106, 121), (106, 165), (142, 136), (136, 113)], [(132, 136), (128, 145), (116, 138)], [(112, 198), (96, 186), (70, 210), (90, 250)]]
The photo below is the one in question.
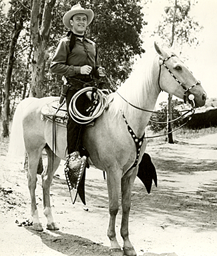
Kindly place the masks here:
[(136, 251), (132, 246), (132, 243), (129, 239), (129, 214), (130, 214), (130, 206), (131, 206), (131, 194), (132, 187), (134, 184), (134, 180), (136, 179), (136, 169), (132, 173), (132, 175), (124, 176), (122, 178), (122, 227), (121, 227), (121, 235), (124, 240), (124, 255), (128, 256), (136, 256)]

